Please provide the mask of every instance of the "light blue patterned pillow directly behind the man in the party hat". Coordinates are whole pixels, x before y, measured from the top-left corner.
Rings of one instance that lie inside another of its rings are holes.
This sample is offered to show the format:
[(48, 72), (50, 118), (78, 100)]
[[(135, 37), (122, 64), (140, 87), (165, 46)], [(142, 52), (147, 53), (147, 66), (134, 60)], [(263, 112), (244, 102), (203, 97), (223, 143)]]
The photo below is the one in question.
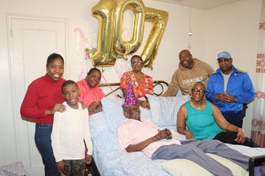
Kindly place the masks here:
[[(121, 98), (102, 98), (102, 110), (108, 124), (108, 128), (114, 134), (117, 133), (119, 126), (124, 122), (124, 110), (121, 105), (124, 104), (124, 99)], [(150, 119), (150, 110), (140, 107), (141, 117)]]

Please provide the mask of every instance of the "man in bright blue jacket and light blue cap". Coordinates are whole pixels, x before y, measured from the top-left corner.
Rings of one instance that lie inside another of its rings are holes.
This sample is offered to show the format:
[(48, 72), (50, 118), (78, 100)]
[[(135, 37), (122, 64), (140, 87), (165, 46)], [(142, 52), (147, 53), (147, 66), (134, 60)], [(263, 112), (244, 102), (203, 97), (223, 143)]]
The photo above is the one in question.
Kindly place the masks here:
[(255, 98), (255, 89), (248, 74), (235, 68), (228, 52), (218, 54), (219, 69), (210, 75), (206, 98), (213, 102), (230, 123), (242, 128), (243, 103)]

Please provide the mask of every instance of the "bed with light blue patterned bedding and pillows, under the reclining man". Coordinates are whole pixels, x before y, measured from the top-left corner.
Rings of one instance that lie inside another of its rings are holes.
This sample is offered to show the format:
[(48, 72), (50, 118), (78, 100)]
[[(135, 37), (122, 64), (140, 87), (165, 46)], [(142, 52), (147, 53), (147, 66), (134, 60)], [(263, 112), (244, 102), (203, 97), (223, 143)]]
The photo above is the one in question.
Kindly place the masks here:
[[(176, 116), (179, 107), (190, 99), (189, 96), (159, 97), (148, 96), (150, 110), (142, 109), (141, 117), (153, 120), (162, 129), (171, 129), (173, 135), (181, 140), (185, 136), (177, 133)], [(101, 175), (212, 175), (201, 166), (188, 159), (152, 160), (144, 153), (127, 153), (119, 148), (117, 129), (124, 122), (125, 116), (121, 108), (124, 99), (104, 98), (101, 100), (103, 111), (90, 116), (90, 133), (93, 142), (93, 158)], [(231, 145), (244, 155), (264, 155), (265, 148), (249, 148), (247, 146)], [(234, 175), (248, 175), (248, 172), (230, 162), (228, 159), (209, 154), (225, 166), (228, 166)]]

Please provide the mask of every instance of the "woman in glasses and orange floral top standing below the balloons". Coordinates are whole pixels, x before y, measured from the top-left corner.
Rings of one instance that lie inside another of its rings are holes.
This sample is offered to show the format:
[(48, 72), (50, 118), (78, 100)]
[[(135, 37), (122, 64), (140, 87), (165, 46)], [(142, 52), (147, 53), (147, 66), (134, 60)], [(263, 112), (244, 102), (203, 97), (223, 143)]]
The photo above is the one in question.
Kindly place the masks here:
[[(126, 96), (126, 87), (128, 85), (128, 80), (133, 85), (133, 92), (137, 98), (137, 102), (143, 108), (150, 109), (150, 104), (146, 98), (146, 94), (153, 95), (153, 79), (141, 72), (143, 68), (143, 59), (141, 56), (135, 55), (130, 59), (133, 70), (130, 72), (125, 72), (121, 77), (120, 88), (124, 96)], [(139, 100), (139, 98), (144, 97), (146, 100)]]

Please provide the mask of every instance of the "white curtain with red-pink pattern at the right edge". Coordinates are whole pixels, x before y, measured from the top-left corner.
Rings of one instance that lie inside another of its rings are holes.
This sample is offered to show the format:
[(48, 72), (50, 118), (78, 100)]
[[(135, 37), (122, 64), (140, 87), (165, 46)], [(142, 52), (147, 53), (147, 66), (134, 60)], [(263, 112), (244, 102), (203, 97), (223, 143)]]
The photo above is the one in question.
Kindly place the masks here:
[(265, 3), (262, 4), (262, 17), (259, 23), (255, 91), (251, 138), (259, 146), (265, 147)]

